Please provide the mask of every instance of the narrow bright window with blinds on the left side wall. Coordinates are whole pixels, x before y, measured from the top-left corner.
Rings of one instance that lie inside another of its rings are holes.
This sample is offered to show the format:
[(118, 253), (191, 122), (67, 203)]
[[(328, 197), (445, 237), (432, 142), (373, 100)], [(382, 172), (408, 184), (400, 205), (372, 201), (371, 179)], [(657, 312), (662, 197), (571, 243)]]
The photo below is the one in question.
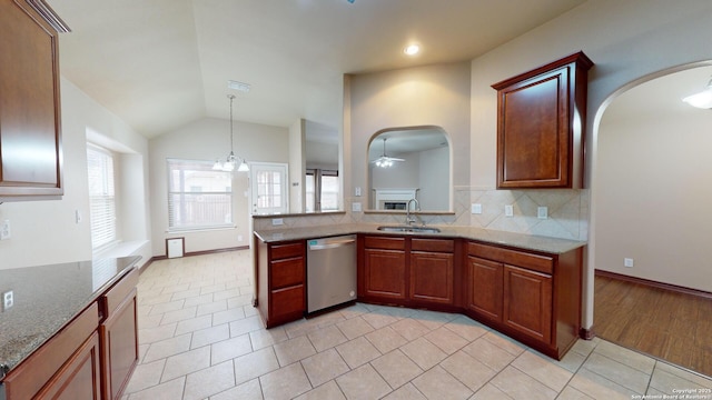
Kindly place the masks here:
[(108, 150), (87, 144), (91, 248), (95, 252), (116, 242), (116, 193), (113, 157)]

